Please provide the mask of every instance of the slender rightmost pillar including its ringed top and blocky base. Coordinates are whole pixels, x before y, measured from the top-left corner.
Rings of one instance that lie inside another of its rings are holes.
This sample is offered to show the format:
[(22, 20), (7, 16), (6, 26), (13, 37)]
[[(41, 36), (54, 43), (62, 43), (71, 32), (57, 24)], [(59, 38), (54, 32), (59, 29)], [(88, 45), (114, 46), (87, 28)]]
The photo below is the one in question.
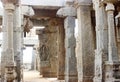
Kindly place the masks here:
[(107, 4), (107, 22), (108, 22), (108, 61), (105, 62), (105, 82), (120, 81), (120, 62), (118, 61), (118, 53), (115, 38), (114, 25), (114, 2), (115, 0), (104, 0)]

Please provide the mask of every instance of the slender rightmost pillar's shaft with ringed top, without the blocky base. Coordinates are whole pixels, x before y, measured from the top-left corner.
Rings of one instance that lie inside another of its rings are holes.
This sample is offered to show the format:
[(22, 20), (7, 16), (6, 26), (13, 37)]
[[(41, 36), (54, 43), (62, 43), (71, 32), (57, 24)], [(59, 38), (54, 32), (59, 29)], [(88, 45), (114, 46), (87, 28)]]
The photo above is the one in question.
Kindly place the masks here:
[(109, 61), (118, 61), (116, 39), (115, 39), (115, 25), (114, 25), (114, 5), (107, 3), (107, 20), (108, 20), (108, 48), (109, 48)]

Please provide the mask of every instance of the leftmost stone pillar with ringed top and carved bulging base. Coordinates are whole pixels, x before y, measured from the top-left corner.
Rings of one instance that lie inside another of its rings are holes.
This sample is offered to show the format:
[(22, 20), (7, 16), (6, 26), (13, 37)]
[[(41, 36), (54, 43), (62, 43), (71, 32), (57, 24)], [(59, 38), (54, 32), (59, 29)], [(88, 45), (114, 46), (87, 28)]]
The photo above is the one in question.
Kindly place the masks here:
[[(16, 78), (14, 48), (13, 48), (13, 27), (14, 27), (14, 11), (16, 0), (2, 0), (4, 6), (4, 35), (2, 43), (2, 61), (1, 61), (1, 82), (13, 82)], [(5, 44), (5, 42), (7, 44)], [(6, 45), (6, 48), (4, 47)], [(3, 63), (4, 62), (4, 63)]]

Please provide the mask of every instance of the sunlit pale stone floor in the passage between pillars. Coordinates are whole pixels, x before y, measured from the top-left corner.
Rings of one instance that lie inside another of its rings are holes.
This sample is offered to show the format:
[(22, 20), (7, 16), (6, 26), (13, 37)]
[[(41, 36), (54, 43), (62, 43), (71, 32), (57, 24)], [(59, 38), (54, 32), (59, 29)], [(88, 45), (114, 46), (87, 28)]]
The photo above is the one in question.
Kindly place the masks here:
[(24, 71), (24, 82), (64, 82), (56, 78), (43, 78), (37, 71)]

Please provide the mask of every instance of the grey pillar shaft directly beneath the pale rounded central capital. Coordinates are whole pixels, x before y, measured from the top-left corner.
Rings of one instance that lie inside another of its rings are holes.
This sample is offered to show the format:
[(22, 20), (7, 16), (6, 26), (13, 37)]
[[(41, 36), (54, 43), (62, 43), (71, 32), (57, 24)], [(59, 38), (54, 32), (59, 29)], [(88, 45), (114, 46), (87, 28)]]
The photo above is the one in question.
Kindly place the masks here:
[(76, 40), (74, 36), (75, 17), (65, 18), (65, 81), (78, 82), (77, 63), (75, 55)]

